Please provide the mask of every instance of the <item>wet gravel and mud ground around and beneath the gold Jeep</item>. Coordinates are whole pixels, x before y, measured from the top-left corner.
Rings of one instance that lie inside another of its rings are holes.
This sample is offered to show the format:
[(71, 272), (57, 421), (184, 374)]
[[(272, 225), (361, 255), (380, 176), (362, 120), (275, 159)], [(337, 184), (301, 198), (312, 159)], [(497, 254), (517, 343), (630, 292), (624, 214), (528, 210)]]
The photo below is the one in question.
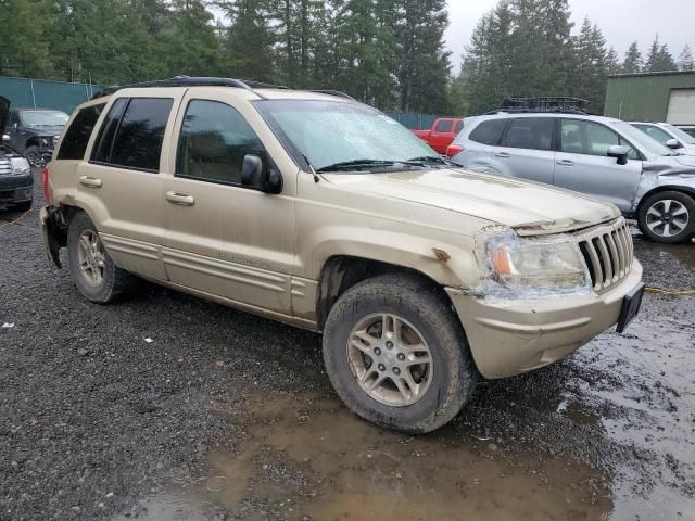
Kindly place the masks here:
[[(340, 404), (317, 334), (151, 285), (89, 304), (37, 214), (0, 214), (0, 520), (695, 520), (695, 296), (412, 437)], [(635, 247), (695, 289), (695, 244)]]

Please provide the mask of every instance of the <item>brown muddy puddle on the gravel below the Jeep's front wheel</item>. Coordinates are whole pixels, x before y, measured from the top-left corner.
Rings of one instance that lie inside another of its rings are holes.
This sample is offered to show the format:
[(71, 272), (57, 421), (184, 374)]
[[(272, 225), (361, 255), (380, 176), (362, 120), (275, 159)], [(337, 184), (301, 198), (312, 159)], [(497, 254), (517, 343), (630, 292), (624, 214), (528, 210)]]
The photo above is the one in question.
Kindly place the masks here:
[(143, 504), (138, 519), (567, 520), (612, 511), (604, 473), (531, 453), (509, 459), (502, 439), (454, 425), (400, 435), (306, 394), (258, 394), (238, 406), (254, 411), (248, 440), (235, 454), (213, 453), (208, 475)]

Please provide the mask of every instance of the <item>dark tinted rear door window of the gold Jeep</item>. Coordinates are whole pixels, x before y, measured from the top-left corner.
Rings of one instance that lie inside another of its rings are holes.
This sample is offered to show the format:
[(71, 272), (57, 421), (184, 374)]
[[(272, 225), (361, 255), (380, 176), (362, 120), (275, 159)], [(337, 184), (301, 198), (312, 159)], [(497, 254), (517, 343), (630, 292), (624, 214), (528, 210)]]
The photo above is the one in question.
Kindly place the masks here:
[(94, 161), (138, 170), (159, 171), (170, 98), (117, 100), (102, 126)]

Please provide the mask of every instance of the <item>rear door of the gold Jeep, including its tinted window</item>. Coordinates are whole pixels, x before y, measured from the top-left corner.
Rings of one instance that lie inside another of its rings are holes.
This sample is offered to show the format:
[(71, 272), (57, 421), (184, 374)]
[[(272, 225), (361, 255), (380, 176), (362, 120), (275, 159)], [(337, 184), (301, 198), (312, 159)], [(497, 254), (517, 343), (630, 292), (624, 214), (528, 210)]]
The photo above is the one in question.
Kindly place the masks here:
[(89, 163), (76, 171), (78, 198), (114, 263), (154, 279), (166, 279), (160, 162), (182, 94), (177, 90), (132, 89), (113, 100)]

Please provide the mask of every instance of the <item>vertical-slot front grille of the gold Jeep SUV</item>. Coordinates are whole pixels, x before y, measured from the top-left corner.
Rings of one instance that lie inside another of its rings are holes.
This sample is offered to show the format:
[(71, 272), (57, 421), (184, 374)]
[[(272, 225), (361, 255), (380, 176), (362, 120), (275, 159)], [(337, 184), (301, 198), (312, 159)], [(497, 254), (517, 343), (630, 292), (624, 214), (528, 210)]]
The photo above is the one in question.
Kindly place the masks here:
[(620, 281), (632, 269), (632, 234), (622, 217), (576, 234), (594, 291)]

